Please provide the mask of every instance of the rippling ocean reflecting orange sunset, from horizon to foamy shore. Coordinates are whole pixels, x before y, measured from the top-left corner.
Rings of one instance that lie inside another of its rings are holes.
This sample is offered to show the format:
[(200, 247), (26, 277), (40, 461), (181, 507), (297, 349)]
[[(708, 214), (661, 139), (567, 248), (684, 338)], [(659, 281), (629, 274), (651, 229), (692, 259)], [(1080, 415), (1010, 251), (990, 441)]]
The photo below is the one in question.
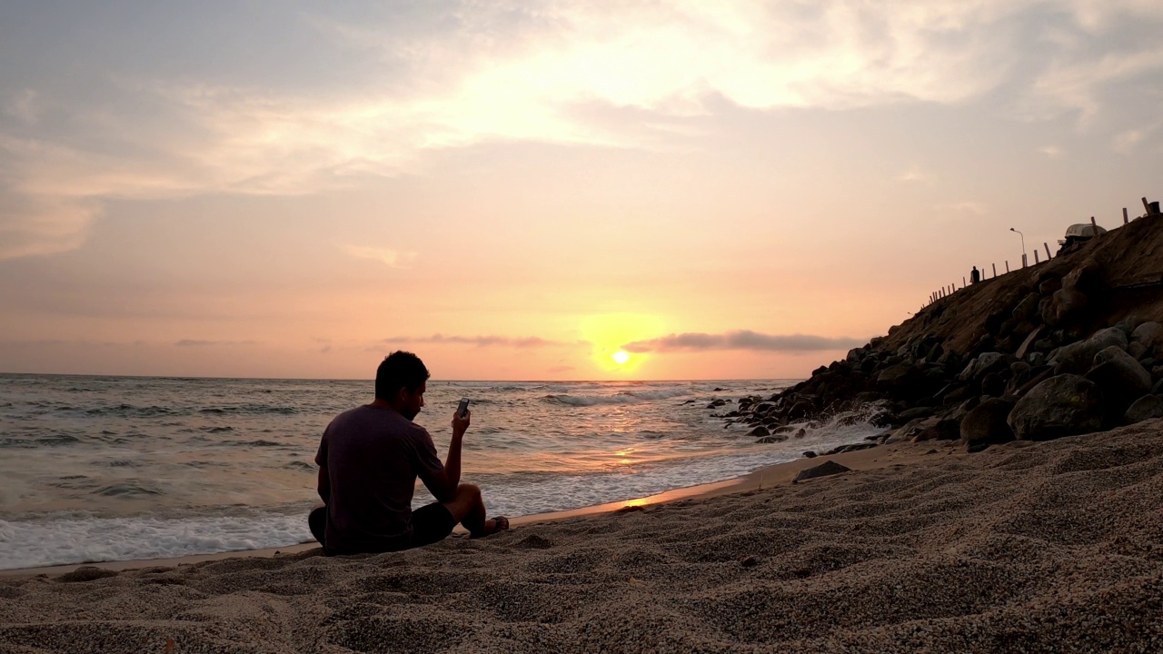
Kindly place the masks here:
[[(865, 422), (756, 443), (716, 398), (794, 381), (430, 381), (416, 417), (443, 460), (471, 399), (462, 481), (490, 514), (579, 509), (730, 479), (858, 442)], [(0, 569), (166, 559), (311, 541), (328, 421), (371, 381), (0, 375)], [(415, 505), (433, 502), (418, 484)]]

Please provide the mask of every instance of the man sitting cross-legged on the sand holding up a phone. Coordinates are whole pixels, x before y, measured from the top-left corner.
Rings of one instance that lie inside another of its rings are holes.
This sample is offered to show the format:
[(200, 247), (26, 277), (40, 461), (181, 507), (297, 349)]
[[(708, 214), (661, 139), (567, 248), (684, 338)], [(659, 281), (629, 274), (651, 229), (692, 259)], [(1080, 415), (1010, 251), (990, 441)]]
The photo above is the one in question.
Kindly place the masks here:
[[(452, 415), (444, 463), (428, 432), (412, 421), (429, 374), (420, 357), (394, 351), (376, 370), (376, 399), (337, 415), (323, 431), (315, 463), (323, 506), (308, 523), (327, 554), (398, 552), (443, 540), (457, 523), (472, 538), (507, 529), (485, 519), (480, 489), (461, 481), (461, 442), (472, 413)], [(437, 502), (412, 511), (420, 477)]]

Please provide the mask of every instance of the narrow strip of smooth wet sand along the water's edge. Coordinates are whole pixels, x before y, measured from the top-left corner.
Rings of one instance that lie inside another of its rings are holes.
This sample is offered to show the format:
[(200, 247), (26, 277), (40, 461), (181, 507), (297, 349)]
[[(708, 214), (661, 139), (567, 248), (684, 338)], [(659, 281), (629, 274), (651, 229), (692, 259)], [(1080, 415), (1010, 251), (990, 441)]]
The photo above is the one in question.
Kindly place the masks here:
[[(943, 446), (949, 443), (939, 443), (939, 445)], [(529, 516), (519, 516), (509, 518), (509, 525), (513, 529), (516, 529), (522, 526), (542, 525), (559, 520), (568, 520), (571, 518), (615, 513), (618, 511), (627, 510), (628, 507), (655, 506), (659, 504), (675, 503), (684, 499), (708, 499), (725, 495), (751, 492), (755, 490), (762, 490), (764, 488), (771, 488), (773, 485), (787, 485), (801, 470), (819, 465), (825, 461), (835, 461), (836, 463), (846, 465), (851, 470), (873, 470), (878, 468), (885, 468), (889, 465), (911, 463), (916, 460), (920, 460), (926, 456), (926, 454), (919, 454), (916, 452), (920, 449), (927, 452), (928, 449), (932, 448), (921, 448), (920, 446), (912, 446), (909, 443), (892, 443), (892, 445), (882, 445), (856, 452), (846, 452), (842, 454), (835, 454), (828, 456), (821, 455), (813, 458), (800, 457), (794, 461), (786, 461), (784, 463), (765, 465), (763, 468), (759, 468), (758, 470), (755, 470), (752, 472), (732, 479), (722, 479), (719, 482), (709, 482), (706, 484), (695, 484), (693, 486), (670, 489), (647, 497), (630, 498), (618, 502), (607, 502), (591, 506), (569, 509), (565, 511), (551, 511), (547, 513), (533, 513)], [(948, 452), (948, 448), (943, 449)], [(884, 458), (884, 461), (880, 461), (882, 458)], [(304, 517), (304, 519), (306, 520), (306, 517)], [(464, 533), (465, 533), (464, 528), (457, 525), (456, 529), (452, 533), (452, 536), (449, 538), (463, 536)], [(0, 570), (0, 580), (22, 578), (37, 575), (48, 575), (50, 577), (53, 577), (74, 571), (78, 568), (86, 568), (86, 567), (100, 568), (102, 570), (112, 570), (120, 573), (126, 570), (136, 570), (141, 568), (154, 568), (154, 567), (172, 568), (178, 566), (191, 566), (194, 563), (202, 563), (207, 561), (222, 561), (227, 559), (272, 559), (277, 556), (302, 554), (305, 552), (315, 549), (317, 547), (319, 547), (317, 542), (301, 542), (295, 545), (288, 545), (285, 547), (269, 547), (262, 549), (235, 549), (229, 552), (216, 552), (213, 554), (191, 554), (186, 556), (177, 556), (170, 559), (95, 561), (86, 563), (63, 563), (58, 566), (38, 566), (35, 568), (13, 568), (8, 570)]]

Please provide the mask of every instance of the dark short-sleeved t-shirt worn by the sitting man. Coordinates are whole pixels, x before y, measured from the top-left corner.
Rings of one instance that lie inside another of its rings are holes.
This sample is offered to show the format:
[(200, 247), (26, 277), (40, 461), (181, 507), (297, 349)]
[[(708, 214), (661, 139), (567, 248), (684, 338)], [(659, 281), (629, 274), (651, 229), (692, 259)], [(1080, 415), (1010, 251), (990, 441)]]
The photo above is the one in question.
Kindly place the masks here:
[(327, 468), (327, 550), (391, 552), (412, 540), (412, 493), (419, 476), (444, 469), (428, 432), (387, 407), (361, 406), (323, 431), (315, 463)]

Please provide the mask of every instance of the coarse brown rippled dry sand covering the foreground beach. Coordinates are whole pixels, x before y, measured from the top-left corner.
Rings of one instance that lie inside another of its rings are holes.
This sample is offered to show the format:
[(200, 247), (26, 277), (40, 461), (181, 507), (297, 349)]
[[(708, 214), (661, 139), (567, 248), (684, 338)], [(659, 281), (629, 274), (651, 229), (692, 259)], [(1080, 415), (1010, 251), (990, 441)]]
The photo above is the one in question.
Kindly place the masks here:
[(405, 553), (24, 571), (0, 652), (1163, 651), (1163, 420), (963, 449)]

